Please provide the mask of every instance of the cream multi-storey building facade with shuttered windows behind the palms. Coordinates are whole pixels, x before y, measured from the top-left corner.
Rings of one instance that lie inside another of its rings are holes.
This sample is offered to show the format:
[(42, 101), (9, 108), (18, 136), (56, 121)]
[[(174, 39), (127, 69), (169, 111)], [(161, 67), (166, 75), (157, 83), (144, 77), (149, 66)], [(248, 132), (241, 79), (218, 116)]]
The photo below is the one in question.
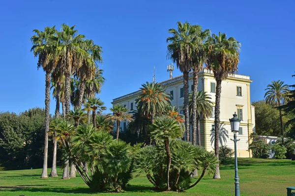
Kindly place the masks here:
[[(234, 149), (234, 142), (231, 132), (231, 125), (229, 119), (233, 117), (236, 112), (238, 118), (241, 119), (240, 130), (238, 132), (237, 155), (238, 157), (252, 157), (251, 152), (248, 151), (250, 141), (250, 134), (255, 128), (255, 108), (250, 101), (250, 83), (252, 80), (248, 75), (234, 74), (230, 75), (221, 83), (221, 101), (220, 101), (220, 134), (219, 145), (228, 146)], [(180, 113), (183, 114), (183, 76), (159, 82), (166, 89), (166, 92), (172, 95), (172, 105), (179, 107)], [(189, 92), (192, 90), (193, 74), (189, 74)], [(139, 84), (140, 86), (140, 84)], [(204, 69), (199, 73), (198, 91), (205, 91), (211, 97), (213, 102), (212, 114), (208, 119), (201, 119), (200, 133), (201, 145), (206, 150), (214, 149), (214, 109), (215, 109), (215, 92), (216, 80), (212, 72)], [(124, 95), (113, 99), (112, 104), (121, 104), (129, 110), (136, 109), (135, 99), (140, 91)], [(125, 130), (126, 122), (120, 123), (121, 130)], [(192, 140), (192, 133), (190, 131), (190, 140)]]

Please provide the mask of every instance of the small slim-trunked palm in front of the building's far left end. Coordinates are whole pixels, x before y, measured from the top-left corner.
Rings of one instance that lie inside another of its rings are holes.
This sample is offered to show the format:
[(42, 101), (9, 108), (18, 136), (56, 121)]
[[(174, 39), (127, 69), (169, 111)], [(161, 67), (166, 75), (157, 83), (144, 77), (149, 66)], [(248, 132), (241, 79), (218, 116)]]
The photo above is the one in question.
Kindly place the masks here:
[(114, 123), (117, 123), (117, 131), (116, 131), (116, 139), (119, 138), (119, 131), (120, 131), (120, 122), (121, 121), (133, 121), (132, 116), (130, 114), (127, 114), (128, 109), (122, 105), (113, 105), (110, 110), (113, 112), (113, 115), (110, 116), (108, 119), (113, 121)]

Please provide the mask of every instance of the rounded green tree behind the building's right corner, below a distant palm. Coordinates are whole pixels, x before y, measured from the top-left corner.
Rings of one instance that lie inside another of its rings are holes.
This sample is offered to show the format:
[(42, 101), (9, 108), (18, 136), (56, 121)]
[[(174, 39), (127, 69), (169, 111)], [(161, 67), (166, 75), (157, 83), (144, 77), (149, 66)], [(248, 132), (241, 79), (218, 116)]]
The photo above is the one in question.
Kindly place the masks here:
[[(258, 135), (279, 136), (281, 135), (280, 114), (278, 109), (260, 100), (252, 102), (255, 106), (255, 132)], [(283, 116), (283, 123), (289, 120), (288, 116)], [(290, 126), (284, 126), (285, 132), (290, 131)]]

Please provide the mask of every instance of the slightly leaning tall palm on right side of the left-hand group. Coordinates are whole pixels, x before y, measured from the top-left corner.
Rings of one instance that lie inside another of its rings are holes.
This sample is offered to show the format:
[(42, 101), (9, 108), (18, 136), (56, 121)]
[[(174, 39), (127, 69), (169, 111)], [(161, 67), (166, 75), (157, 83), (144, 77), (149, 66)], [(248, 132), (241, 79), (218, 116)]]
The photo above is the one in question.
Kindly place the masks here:
[(101, 47), (94, 45), (92, 40), (85, 40), (80, 43), (86, 55), (81, 58), (82, 66), (78, 69), (77, 75), (80, 79), (79, 97), (77, 107), (81, 108), (85, 95), (85, 87), (88, 80), (94, 79), (96, 70), (99, 70), (97, 63), (102, 62)]

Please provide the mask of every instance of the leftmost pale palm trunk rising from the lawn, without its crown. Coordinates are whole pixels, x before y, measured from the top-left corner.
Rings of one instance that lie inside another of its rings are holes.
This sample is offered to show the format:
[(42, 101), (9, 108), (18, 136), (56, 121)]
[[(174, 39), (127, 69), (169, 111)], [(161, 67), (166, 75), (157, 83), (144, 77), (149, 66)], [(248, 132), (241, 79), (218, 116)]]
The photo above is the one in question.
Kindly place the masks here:
[(43, 161), (43, 170), (41, 174), (41, 178), (47, 178), (47, 155), (48, 155), (48, 132), (49, 132), (49, 121), (50, 114), (50, 73), (46, 72), (45, 78), (45, 139), (44, 139), (44, 161)]

